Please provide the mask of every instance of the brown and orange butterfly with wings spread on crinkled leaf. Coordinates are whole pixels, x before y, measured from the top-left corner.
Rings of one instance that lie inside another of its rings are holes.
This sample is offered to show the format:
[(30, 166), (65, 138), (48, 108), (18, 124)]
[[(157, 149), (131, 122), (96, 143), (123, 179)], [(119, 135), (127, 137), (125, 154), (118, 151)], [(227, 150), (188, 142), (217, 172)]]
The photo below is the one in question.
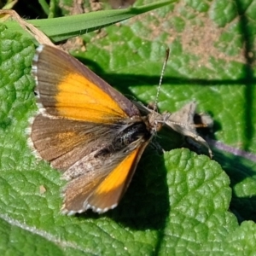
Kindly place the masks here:
[(49, 45), (38, 46), (32, 74), (39, 113), (29, 128), (29, 144), (67, 180), (63, 213), (116, 207), (162, 125), (209, 149), (195, 131), (195, 102), (177, 113), (157, 113), (131, 102), (73, 56)]

